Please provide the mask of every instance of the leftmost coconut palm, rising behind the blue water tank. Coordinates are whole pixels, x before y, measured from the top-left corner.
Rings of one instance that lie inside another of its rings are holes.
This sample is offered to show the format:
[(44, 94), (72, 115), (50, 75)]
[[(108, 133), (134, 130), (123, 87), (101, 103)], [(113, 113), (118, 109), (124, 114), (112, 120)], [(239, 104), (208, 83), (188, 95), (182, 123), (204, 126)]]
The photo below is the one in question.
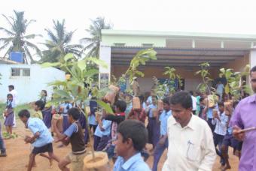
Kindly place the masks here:
[(0, 31), (4, 31), (8, 37), (0, 37), (0, 43), (3, 43), (0, 46), (0, 50), (7, 49), (4, 57), (10, 54), (10, 52), (23, 52), (24, 53), (24, 61), (28, 62), (28, 58), (30, 62), (35, 62), (32, 58), (31, 49), (35, 50), (38, 55), (41, 56), (41, 51), (34, 43), (29, 40), (34, 39), (37, 36), (41, 36), (40, 34), (29, 34), (26, 35), (26, 30), (31, 23), (34, 23), (35, 20), (26, 20), (24, 19), (23, 11), (14, 10), (14, 17), (6, 17), (2, 14), (3, 17), (7, 20), (9, 24), (9, 28), (0, 27)]

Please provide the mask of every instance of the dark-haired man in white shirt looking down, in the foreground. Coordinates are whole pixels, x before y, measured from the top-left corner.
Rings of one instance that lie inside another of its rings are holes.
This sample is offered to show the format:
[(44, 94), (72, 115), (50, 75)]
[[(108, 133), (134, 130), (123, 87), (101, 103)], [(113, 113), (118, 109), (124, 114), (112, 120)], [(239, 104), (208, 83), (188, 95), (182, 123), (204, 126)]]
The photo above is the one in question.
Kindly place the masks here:
[(216, 151), (212, 130), (203, 119), (192, 115), (192, 98), (188, 92), (177, 92), (170, 101), (168, 118), (169, 148), (163, 171), (212, 170)]

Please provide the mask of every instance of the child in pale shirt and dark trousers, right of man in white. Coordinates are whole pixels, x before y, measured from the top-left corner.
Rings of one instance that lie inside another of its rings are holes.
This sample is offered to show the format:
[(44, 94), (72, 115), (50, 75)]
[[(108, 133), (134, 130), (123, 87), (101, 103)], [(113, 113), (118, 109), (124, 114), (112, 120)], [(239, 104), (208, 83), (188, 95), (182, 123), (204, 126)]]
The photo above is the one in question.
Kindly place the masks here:
[[(221, 145), (224, 139), (224, 136), (227, 133), (227, 124), (228, 124), (229, 116), (224, 112), (224, 103), (218, 102), (218, 111), (213, 111), (213, 119), (212, 124), (216, 125), (213, 133), (213, 139), (215, 143), (216, 153), (221, 157), (221, 166), (224, 166), (224, 158), (221, 154)], [(216, 146), (218, 145), (218, 149)]]

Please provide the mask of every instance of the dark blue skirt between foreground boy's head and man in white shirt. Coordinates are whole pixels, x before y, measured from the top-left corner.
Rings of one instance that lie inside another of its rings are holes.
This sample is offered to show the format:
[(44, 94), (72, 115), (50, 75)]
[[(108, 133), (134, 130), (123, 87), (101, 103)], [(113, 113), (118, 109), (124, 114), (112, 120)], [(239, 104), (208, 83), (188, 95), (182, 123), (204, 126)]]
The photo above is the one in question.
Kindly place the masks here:
[(148, 143), (153, 145), (153, 148), (157, 145), (160, 139), (160, 124), (157, 124), (157, 119), (148, 118)]

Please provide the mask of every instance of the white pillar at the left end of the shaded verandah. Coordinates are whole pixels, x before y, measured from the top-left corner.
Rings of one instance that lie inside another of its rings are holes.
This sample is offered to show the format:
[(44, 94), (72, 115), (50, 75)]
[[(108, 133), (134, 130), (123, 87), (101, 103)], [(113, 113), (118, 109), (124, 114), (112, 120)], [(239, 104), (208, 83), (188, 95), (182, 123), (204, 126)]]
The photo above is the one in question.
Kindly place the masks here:
[(99, 66), (99, 89), (108, 86), (111, 78), (111, 47), (110, 46), (100, 46), (99, 48), (99, 59), (104, 61), (108, 68), (102, 68)]

